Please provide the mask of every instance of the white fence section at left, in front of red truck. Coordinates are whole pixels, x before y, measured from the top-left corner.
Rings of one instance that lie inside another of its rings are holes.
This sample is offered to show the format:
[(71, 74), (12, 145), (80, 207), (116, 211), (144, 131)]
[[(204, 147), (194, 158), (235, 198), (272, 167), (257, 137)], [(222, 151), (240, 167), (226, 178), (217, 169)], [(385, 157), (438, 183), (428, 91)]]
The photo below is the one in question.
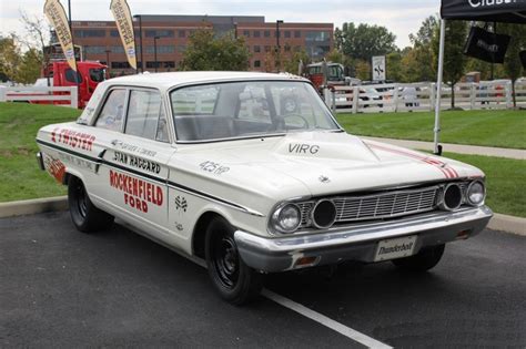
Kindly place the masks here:
[(59, 102), (60, 105), (79, 107), (77, 86), (34, 88), (0, 86), (0, 102)]

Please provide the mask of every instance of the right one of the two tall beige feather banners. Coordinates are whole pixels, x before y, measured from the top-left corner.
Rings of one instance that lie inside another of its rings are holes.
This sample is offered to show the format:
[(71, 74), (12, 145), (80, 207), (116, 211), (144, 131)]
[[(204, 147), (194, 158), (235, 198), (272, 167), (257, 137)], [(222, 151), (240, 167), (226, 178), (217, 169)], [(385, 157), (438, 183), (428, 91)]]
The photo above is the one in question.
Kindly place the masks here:
[(121, 41), (128, 57), (128, 63), (136, 70), (135, 35), (133, 32), (130, 7), (128, 6), (127, 0), (111, 0), (110, 10), (115, 19), (117, 29), (119, 29), (119, 33), (121, 34)]

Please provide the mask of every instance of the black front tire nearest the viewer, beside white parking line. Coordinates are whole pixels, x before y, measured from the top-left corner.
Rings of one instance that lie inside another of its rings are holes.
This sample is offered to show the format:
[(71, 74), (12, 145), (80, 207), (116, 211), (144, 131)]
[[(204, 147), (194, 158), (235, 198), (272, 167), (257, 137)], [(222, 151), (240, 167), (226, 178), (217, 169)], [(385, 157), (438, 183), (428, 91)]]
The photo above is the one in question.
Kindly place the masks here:
[(263, 276), (244, 264), (234, 229), (223, 218), (213, 218), (206, 229), (205, 255), (209, 276), (221, 298), (241, 306), (257, 297)]

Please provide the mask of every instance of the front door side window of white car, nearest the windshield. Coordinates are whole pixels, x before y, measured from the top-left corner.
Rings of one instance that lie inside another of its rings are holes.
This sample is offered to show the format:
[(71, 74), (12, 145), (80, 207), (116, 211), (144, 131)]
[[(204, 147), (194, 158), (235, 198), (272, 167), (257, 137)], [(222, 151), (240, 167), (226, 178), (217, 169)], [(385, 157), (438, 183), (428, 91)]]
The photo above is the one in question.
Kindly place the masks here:
[(168, 141), (166, 116), (159, 92), (131, 92), (124, 132), (149, 140)]

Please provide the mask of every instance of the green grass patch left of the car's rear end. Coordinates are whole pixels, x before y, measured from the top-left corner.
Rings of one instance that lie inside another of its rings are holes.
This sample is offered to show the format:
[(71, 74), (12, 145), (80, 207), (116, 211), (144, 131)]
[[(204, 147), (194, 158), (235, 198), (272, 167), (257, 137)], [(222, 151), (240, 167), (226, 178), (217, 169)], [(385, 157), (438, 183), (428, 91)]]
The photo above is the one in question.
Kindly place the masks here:
[(65, 194), (39, 170), (34, 138), (43, 125), (74, 121), (80, 113), (63, 106), (0, 103), (0, 202)]

